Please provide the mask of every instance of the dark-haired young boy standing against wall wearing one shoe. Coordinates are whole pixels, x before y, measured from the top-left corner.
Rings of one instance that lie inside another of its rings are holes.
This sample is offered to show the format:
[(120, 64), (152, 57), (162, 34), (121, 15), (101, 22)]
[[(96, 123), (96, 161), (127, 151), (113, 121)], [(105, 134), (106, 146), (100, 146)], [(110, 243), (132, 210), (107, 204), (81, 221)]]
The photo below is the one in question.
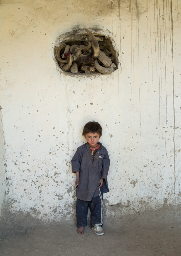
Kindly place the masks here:
[(82, 135), (87, 143), (80, 146), (72, 158), (72, 172), (76, 173), (77, 187), (77, 232), (84, 234), (87, 226), (88, 207), (90, 209), (90, 225), (97, 235), (104, 235), (102, 229), (103, 192), (109, 192), (107, 175), (109, 155), (107, 149), (99, 142), (102, 127), (97, 122), (88, 122)]

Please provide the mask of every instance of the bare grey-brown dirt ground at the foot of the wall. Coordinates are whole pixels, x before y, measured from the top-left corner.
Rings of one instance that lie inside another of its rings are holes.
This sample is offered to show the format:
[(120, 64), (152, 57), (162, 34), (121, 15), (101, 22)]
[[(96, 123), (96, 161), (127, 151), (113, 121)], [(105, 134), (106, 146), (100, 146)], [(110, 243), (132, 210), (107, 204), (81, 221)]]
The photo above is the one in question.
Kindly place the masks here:
[(0, 256), (180, 256), (181, 219), (170, 211), (111, 217), (96, 235), (88, 225), (37, 226), (0, 240)]

